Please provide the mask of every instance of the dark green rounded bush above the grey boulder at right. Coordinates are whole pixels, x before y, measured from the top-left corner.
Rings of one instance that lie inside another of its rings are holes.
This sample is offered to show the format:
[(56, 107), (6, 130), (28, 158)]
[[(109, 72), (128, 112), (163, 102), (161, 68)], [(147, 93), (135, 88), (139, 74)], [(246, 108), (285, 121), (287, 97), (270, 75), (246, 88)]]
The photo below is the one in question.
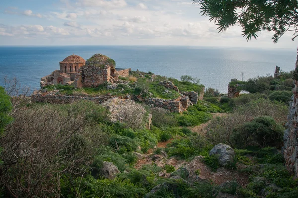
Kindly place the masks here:
[(236, 148), (280, 146), (283, 134), (283, 126), (276, 124), (272, 117), (261, 116), (235, 128), (231, 141)]

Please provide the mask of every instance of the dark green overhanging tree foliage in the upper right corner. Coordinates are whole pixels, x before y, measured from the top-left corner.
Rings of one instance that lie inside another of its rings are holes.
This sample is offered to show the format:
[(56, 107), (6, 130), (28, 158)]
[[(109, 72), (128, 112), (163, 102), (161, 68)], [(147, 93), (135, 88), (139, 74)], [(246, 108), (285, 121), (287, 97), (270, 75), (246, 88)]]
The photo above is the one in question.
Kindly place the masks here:
[(210, 17), (223, 32), (238, 24), (242, 35), (249, 41), (258, 37), (261, 30), (273, 31), (272, 40), (277, 43), (287, 31), (298, 36), (297, 0), (192, 0), (201, 4), (203, 16)]

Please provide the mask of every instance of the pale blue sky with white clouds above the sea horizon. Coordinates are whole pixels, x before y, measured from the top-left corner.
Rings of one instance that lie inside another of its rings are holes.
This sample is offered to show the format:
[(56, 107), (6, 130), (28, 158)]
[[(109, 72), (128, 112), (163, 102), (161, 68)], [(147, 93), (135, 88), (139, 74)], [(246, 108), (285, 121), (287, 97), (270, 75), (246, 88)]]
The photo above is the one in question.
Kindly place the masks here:
[(296, 49), (262, 31), (247, 42), (234, 26), (218, 33), (191, 0), (0, 0), (0, 45), (183, 45)]

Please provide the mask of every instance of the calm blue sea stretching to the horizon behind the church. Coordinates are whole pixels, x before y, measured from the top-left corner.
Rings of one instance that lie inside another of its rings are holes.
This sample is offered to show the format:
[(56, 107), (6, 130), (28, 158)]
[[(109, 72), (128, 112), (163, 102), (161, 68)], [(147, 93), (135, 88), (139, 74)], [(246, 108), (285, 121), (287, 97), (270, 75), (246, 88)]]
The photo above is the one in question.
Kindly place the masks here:
[(0, 47), (0, 85), (5, 76), (16, 77), (31, 90), (40, 78), (59, 69), (59, 62), (76, 54), (85, 60), (95, 53), (116, 61), (116, 68), (132, 68), (180, 79), (197, 77), (206, 88), (227, 93), (230, 79), (273, 75), (275, 66), (293, 70), (296, 49), (253, 49), (200, 46), (57, 46)]

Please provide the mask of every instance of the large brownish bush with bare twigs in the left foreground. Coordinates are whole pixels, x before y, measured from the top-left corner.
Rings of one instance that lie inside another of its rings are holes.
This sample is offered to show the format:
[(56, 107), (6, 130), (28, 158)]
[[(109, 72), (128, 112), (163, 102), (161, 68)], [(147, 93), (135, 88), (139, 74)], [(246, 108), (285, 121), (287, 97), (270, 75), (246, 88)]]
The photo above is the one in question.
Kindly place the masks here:
[(77, 103), (33, 105), (16, 111), (15, 122), (0, 139), (1, 188), (16, 197), (57, 197), (62, 175), (72, 181), (87, 174), (96, 147), (107, 140), (89, 115)]

